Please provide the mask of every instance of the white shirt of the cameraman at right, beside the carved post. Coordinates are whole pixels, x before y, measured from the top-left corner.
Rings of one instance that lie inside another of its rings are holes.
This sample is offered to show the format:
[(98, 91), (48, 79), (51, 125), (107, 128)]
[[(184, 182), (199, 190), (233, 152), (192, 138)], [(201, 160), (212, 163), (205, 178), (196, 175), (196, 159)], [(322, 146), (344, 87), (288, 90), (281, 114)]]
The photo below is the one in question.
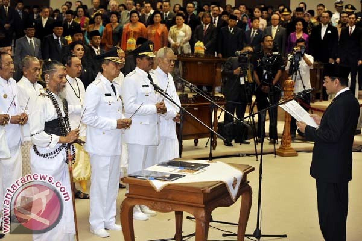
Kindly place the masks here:
[[(304, 56), (306, 56), (307, 59), (309, 61), (311, 61), (311, 63), (313, 63), (314, 58), (311, 55), (307, 55), (306, 53), (304, 53)], [(292, 56), (289, 55), (288, 59), (290, 59), (291, 57)], [(289, 70), (289, 67), (290, 67), (290, 61), (288, 61), (287, 66), (286, 66), (285, 69)], [(308, 66), (306, 61), (304, 60), (304, 58), (302, 58), (299, 61), (299, 71), (300, 71), (300, 75), (302, 76), (303, 83), (306, 86), (306, 89), (311, 89), (312, 88), (311, 81), (310, 81), (310, 76), (309, 76), (309, 70), (310, 69), (313, 69), (313, 64), (311, 66)], [(296, 76), (296, 79), (295, 79), (295, 85), (294, 85), (294, 93), (295, 94), (304, 90), (302, 79), (300, 79), (300, 75), (298, 73), (297, 76)], [(294, 80), (294, 76), (293, 76), (293, 80)]]

